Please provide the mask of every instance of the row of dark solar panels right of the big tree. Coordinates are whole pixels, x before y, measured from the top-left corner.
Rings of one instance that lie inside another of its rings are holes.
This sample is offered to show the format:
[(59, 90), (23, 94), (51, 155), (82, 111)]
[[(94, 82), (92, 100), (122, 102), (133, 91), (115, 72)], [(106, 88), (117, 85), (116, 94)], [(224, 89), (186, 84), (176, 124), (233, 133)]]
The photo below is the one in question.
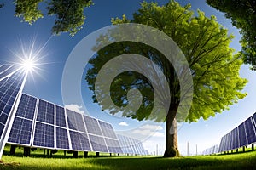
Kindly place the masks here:
[(204, 155), (235, 150), (253, 143), (256, 143), (256, 113), (247, 118), (247, 120), (242, 122), (238, 127), (230, 131), (230, 133), (225, 134), (221, 138), (218, 150), (214, 150), (214, 152), (212, 152), (209, 151), (210, 149), (207, 149), (204, 151)]

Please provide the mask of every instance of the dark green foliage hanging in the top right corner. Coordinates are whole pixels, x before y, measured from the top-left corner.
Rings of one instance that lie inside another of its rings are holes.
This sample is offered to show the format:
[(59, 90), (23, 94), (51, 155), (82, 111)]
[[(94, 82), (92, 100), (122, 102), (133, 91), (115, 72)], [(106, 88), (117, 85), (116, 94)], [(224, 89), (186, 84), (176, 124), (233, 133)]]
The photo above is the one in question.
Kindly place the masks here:
[(241, 29), (241, 55), (244, 63), (256, 65), (256, 1), (207, 0), (207, 3), (224, 12), (232, 20), (232, 25)]

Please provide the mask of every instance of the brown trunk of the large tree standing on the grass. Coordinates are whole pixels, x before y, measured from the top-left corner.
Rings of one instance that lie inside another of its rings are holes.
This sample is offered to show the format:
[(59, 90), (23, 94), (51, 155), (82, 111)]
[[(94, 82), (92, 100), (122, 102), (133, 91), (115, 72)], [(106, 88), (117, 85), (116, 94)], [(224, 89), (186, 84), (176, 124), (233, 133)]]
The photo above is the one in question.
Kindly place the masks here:
[(177, 106), (170, 107), (166, 116), (166, 151), (164, 157), (179, 156), (177, 150), (177, 122), (175, 116), (177, 114)]

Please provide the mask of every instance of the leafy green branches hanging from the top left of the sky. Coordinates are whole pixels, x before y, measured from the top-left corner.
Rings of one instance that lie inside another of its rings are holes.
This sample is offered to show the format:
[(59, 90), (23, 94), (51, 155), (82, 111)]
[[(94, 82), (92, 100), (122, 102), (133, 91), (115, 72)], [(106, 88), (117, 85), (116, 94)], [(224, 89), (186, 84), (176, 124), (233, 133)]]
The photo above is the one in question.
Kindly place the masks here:
[(91, 0), (15, 0), (15, 16), (22, 17), (23, 21), (32, 24), (44, 14), (39, 9), (40, 3), (46, 3), (48, 15), (55, 16), (55, 25), (52, 27), (53, 34), (69, 32), (74, 36), (84, 25), (84, 8), (90, 7)]

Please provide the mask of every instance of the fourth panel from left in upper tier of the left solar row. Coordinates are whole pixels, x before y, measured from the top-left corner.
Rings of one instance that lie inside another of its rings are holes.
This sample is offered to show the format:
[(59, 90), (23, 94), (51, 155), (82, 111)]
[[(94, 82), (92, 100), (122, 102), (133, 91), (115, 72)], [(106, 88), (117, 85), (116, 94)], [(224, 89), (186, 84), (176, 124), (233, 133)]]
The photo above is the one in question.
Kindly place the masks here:
[(84, 127), (83, 116), (75, 111), (66, 109), (67, 112), (67, 123), (70, 129), (86, 132)]

